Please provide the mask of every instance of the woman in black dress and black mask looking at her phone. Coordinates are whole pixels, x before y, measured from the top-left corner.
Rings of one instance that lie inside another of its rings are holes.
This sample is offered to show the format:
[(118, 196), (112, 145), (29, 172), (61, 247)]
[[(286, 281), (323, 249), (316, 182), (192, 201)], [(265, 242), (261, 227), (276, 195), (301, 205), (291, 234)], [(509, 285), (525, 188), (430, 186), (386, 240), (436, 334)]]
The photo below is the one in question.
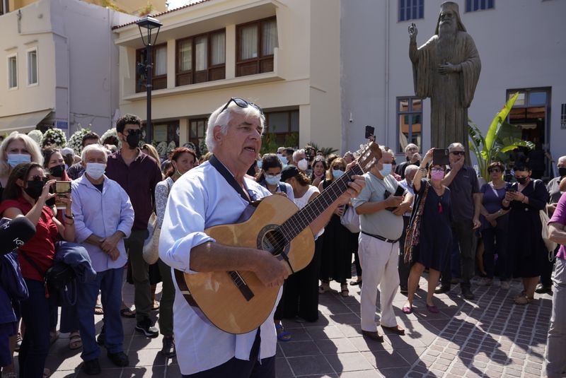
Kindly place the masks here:
[(502, 209), (509, 211), (509, 239), (507, 250), (513, 261), (513, 275), (523, 280), (523, 291), (515, 297), (517, 305), (533, 300), (538, 277), (548, 259), (542, 237), (539, 212), (546, 208), (548, 191), (541, 180), (531, 179), (531, 168), (516, 163), (515, 179), (502, 201)]

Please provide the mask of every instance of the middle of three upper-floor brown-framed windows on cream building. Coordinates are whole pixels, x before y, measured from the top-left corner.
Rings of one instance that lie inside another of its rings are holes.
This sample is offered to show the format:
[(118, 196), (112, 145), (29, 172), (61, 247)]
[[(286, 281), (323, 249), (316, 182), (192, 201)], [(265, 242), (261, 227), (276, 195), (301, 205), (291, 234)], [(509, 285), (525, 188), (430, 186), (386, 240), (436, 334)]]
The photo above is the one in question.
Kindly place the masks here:
[(177, 41), (175, 85), (188, 85), (226, 78), (226, 32)]

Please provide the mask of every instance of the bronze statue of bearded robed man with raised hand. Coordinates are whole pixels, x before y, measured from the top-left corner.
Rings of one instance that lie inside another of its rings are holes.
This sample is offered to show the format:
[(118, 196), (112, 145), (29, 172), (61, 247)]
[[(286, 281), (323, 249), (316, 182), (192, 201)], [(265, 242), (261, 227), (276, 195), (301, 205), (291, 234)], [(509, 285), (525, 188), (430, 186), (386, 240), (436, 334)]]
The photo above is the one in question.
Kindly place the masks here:
[(417, 28), (409, 27), (409, 57), (415, 95), (430, 98), (432, 147), (460, 142), (468, 153), (468, 107), (480, 77), (481, 62), (472, 37), (466, 33), (458, 4), (440, 6), (434, 35), (417, 49)]

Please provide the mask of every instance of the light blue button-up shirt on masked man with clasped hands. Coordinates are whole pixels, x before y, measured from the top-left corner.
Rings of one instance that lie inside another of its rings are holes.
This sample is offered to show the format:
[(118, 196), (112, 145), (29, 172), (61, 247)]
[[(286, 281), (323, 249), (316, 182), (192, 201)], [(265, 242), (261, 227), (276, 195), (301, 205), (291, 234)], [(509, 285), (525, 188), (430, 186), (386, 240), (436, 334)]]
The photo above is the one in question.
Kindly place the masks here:
[(91, 256), (93, 268), (97, 272), (122, 268), (126, 264), (124, 239), (116, 245), (120, 256), (112, 261), (110, 255), (96, 245), (84, 242), (92, 234), (109, 237), (116, 231), (124, 232), (125, 237), (132, 233), (134, 208), (126, 191), (120, 184), (104, 176), (102, 193), (82, 175), (71, 182), (71, 209), (75, 218), (75, 239), (81, 243)]

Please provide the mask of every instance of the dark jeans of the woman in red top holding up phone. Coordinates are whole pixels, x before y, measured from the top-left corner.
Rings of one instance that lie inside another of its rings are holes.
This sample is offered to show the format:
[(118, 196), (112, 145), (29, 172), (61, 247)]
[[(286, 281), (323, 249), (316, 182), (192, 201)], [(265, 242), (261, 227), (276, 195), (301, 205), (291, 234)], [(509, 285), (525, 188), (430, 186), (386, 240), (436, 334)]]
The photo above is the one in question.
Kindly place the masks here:
[[(49, 331), (51, 327), (50, 299), (45, 297), (45, 286), (42, 281), (24, 278), (28, 285), (29, 297), (21, 302), (22, 319), (25, 323), (18, 361), (21, 378), (37, 378), (43, 376), (45, 359), (49, 352)], [(92, 312), (92, 309), (91, 309)], [(47, 314), (47, 316), (45, 316)]]

